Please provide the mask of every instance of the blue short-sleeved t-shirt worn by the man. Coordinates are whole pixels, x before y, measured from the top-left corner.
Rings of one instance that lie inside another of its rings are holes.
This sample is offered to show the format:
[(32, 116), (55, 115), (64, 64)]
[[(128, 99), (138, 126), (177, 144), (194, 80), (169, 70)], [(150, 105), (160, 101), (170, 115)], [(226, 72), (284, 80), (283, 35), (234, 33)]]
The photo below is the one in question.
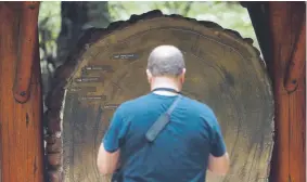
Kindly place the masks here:
[(118, 182), (204, 182), (209, 153), (226, 153), (214, 112), (187, 96), (157, 139), (146, 141), (149, 128), (176, 98), (149, 93), (116, 109), (103, 144), (111, 153), (120, 148)]

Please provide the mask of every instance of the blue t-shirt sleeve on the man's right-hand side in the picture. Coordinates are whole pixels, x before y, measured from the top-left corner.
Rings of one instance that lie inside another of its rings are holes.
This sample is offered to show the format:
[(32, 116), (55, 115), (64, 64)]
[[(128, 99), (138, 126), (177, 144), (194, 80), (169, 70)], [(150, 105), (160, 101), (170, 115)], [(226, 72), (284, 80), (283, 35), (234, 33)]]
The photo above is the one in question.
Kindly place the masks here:
[(213, 133), (213, 138), (212, 138), (210, 154), (215, 157), (221, 157), (226, 153), (226, 144), (222, 138), (219, 123), (216, 118), (212, 133)]

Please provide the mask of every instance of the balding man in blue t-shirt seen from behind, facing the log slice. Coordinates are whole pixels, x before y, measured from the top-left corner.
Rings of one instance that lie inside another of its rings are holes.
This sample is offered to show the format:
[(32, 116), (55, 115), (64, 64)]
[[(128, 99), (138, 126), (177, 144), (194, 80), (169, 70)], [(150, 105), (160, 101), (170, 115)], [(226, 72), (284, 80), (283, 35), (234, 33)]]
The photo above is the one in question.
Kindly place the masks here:
[[(116, 182), (204, 182), (207, 169), (227, 173), (229, 157), (215, 114), (179, 93), (184, 74), (177, 48), (151, 52), (146, 75), (152, 92), (116, 109), (99, 150), (102, 174), (115, 172)], [(172, 104), (169, 122), (149, 141), (149, 130)]]

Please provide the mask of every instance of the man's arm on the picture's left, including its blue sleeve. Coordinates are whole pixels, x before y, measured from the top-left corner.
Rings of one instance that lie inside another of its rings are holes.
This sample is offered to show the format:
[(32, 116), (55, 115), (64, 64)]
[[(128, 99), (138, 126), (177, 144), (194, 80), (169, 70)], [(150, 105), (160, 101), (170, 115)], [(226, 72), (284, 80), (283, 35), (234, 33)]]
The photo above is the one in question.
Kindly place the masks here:
[(125, 136), (126, 125), (119, 110), (114, 113), (110, 127), (103, 138), (98, 153), (98, 168), (101, 174), (112, 174), (119, 167), (120, 140)]

